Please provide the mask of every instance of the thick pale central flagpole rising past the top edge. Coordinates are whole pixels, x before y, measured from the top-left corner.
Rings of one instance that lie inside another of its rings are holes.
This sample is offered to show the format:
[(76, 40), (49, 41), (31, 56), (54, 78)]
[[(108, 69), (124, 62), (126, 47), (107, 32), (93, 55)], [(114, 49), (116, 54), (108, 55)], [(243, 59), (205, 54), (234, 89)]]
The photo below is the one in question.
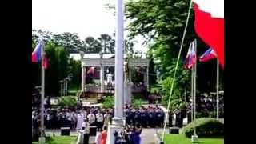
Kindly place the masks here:
[(107, 144), (114, 143), (114, 131), (122, 130), (122, 117), (123, 117), (123, 51), (124, 51), (124, 38), (123, 38), (123, 0), (116, 0), (116, 50), (115, 50), (115, 67), (114, 67), (114, 118), (112, 125), (109, 126)]

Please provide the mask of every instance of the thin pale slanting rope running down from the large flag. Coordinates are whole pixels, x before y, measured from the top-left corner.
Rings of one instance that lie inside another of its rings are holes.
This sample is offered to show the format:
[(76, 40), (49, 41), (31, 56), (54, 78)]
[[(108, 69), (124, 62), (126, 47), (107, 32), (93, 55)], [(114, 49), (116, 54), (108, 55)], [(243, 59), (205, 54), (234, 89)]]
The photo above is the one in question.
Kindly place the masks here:
[(169, 109), (170, 109), (170, 97), (171, 97), (171, 95), (173, 93), (173, 90), (174, 90), (174, 81), (175, 81), (176, 72), (177, 72), (177, 69), (178, 69), (179, 58), (181, 57), (181, 54), (182, 54), (182, 46), (183, 46), (183, 42), (184, 42), (185, 35), (186, 35), (187, 25), (188, 25), (188, 22), (189, 22), (189, 19), (190, 19), (191, 7), (192, 7), (192, 0), (190, 0), (190, 7), (189, 7), (187, 18), (186, 18), (186, 26), (185, 26), (185, 29), (184, 29), (184, 32), (183, 32), (183, 36), (182, 36), (182, 43), (181, 43), (180, 49), (178, 51), (178, 59), (177, 59), (175, 70), (174, 70), (174, 78), (173, 78), (173, 81), (172, 81), (171, 87), (170, 87), (170, 95), (169, 95), (168, 106), (167, 106), (168, 113), (166, 114), (166, 118), (165, 118), (165, 122), (164, 122), (164, 127), (163, 127), (163, 131), (162, 131), (162, 139), (161, 139), (162, 142), (163, 142), (163, 139), (165, 137), (166, 122), (167, 122), (167, 118), (168, 118), (168, 115), (169, 115)]

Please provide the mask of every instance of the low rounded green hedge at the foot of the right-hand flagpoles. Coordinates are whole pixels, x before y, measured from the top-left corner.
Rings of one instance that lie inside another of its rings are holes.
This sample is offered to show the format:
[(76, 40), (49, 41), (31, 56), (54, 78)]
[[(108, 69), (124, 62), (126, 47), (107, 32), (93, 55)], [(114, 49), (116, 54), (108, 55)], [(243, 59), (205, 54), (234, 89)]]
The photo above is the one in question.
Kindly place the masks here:
[(194, 126), (196, 127), (198, 137), (224, 135), (224, 124), (215, 118), (198, 118), (194, 122), (183, 127), (181, 130), (182, 134), (185, 134), (187, 138), (191, 138), (191, 135), (194, 132)]

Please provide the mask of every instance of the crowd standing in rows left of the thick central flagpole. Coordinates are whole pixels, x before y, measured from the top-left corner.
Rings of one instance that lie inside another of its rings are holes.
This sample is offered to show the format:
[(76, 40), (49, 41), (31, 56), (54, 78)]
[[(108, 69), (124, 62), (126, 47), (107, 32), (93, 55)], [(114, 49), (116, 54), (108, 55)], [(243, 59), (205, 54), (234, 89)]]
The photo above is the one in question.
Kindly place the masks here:
[[(81, 129), (82, 121), (88, 118), (90, 126), (101, 128), (104, 122), (110, 121), (113, 117), (113, 109), (100, 109), (97, 106), (82, 106), (80, 109), (69, 108), (48, 108), (44, 112), (46, 129), (60, 129), (70, 127), (71, 130)], [(34, 128), (39, 126), (40, 110), (32, 110)], [(105, 123), (106, 123), (105, 122)]]

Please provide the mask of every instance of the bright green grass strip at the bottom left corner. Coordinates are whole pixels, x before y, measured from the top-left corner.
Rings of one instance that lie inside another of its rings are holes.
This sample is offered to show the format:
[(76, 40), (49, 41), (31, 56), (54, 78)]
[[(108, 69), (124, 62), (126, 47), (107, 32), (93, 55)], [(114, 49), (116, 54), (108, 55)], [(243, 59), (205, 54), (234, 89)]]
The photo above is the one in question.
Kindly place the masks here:
[[(46, 144), (72, 144), (76, 140), (75, 136), (56, 136), (51, 138)], [(32, 142), (32, 144), (38, 144), (38, 142)]]

